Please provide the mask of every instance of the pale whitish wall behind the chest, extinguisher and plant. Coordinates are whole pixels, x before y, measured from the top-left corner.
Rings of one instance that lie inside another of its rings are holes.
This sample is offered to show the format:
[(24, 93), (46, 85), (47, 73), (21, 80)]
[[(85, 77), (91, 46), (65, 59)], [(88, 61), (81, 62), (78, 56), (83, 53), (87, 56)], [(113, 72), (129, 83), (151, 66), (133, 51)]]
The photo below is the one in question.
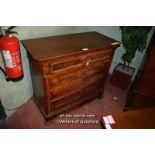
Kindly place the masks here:
[[(50, 35), (76, 33), (76, 32), (86, 32), (86, 31), (97, 31), (99, 33), (105, 34), (113, 39), (121, 41), (121, 33), (118, 26), (19, 26), (15, 28), (19, 33), (18, 38), (20, 40), (44, 37)], [(149, 33), (148, 42), (152, 36), (153, 31)], [(110, 67), (110, 73), (112, 73), (114, 67), (121, 62), (121, 56), (123, 54), (123, 47), (117, 48), (112, 65)], [(145, 51), (144, 51), (145, 53)], [(133, 60), (132, 66), (138, 70), (144, 53), (137, 53), (135, 59)], [(24, 79), (20, 82), (6, 82), (3, 74), (0, 72), (0, 98), (2, 104), (7, 109), (14, 109), (23, 103), (25, 103), (33, 94), (31, 76), (29, 70), (29, 63), (26, 56), (26, 51), (21, 45), (21, 54), (24, 67)], [(0, 55), (0, 66), (3, 66), (3, 61)], [(4, 66), (3, 66), (4, 67)], [(135, 72), (136, 74), (136, 72)], [(13, 111), (6, 110), (8, 116), (10, 116)]]

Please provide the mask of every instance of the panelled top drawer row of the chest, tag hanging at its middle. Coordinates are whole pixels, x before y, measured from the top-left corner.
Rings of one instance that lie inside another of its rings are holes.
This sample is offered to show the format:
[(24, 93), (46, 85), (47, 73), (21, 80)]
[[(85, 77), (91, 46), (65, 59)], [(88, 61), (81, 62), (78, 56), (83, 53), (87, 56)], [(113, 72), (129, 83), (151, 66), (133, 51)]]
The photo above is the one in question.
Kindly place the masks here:
[(68, 58), (61, 58), (57, 60), (47, 60), (42, 62), (43, 74), (55, 74), (61, 75), (77, 70), (81, 70), (83, 67), (88, 66), (94, 63), (101, 63), (104, 61), (111, 61), (113, 51), (108, 50), (99, 50), (99, 51), (90, 51), (78, 56), (72, 56)]

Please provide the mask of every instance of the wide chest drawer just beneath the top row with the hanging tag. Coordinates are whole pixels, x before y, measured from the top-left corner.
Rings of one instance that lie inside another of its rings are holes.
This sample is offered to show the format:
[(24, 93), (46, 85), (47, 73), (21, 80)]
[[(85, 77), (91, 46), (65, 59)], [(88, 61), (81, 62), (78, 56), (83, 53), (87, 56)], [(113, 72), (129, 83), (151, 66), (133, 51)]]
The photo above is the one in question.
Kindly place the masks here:
[[(82, 70), (68, 73), (68, 74), (61, 74), (61, 75), (51, 75), (48, 78), (48, 86), (52, 91), (59, 91), (61, 89), (65, 89), (70, 86), (79, 85), (81, 81), (87, 79), (93, 79), (98, 75), (104, 76), (106, 65), (105, 64), (98, 64), (95, 66), (89, 66), (83, 68)], [(89, 82), (89, 81), (86, 81)]]

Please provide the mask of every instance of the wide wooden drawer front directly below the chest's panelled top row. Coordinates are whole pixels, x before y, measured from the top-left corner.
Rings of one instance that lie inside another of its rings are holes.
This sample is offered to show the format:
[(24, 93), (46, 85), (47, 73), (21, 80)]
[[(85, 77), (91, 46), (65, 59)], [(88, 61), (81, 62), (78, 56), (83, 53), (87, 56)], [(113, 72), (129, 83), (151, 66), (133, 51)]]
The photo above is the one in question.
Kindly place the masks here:
[(83, 71), (78, 71), (70, 74), (60, 75), (60, 76), (51, 76), (49, 78), (49, 87), (50, 92), (59, 92), (65, 91), (68, 88), (74, 89), (74, 87), (79, 87), (81, 84), (89, 83), (89, 82), (96, 82), (98, 80), (102, 80), (104, 78), (105, 70), (104, 65), (100, 64), (98, 66), (94, 66), (93, 68), (89, 67), (84, 69)]

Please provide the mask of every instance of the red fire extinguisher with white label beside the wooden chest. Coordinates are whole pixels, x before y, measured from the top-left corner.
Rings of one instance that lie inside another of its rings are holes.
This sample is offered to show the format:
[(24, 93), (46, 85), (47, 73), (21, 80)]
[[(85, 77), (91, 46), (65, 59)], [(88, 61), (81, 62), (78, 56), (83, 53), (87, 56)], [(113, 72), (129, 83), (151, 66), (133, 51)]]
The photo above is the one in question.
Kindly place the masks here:
[(14, 36), (4, 36), (0, 38), (0, 51), (4, 61), (7, 79), (11, 81), (21, 80), (24, 76), (19, 40)]

